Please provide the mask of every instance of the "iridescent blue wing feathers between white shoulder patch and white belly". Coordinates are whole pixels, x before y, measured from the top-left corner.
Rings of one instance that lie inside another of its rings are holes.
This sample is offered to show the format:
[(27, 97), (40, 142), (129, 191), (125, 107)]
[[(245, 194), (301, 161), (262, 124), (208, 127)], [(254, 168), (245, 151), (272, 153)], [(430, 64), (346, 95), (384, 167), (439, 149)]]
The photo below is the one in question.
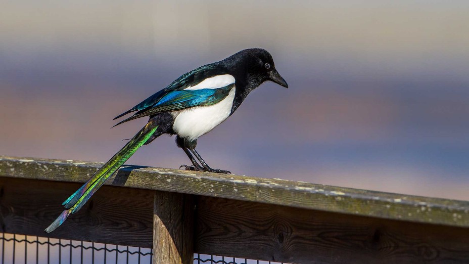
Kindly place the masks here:
[(194, 106), (213, 105), (225, 99), (233, 87), (234, 84), (230, 84), (218, 89), (171, 91), (160, 98), (158, 103), (153, 107), (140, 110), (131, 117), (122, 120), (116, 125), (136, 118), (155, 115), (158, 113), (178, 111)]

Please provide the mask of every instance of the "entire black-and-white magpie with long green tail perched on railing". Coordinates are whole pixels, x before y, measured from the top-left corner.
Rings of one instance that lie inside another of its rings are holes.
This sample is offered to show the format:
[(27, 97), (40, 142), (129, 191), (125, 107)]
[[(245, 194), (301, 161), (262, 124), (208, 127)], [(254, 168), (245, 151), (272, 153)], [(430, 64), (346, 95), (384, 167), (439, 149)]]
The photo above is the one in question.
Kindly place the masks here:
[(269, 52), (260, 48), (246, 49), (181, 75), (161, 91), (116, 116), (114, 120), (133, 113), (116, 125), (146, 116), (149, 120), (119, 152), (62, 203), (65, 210), (44, 232), (50, 233), (62, 225), (138, 148), (163, 134), (176, 135), (177, 147), (192, 162), (190, 166), (181, 165), (179, 168), (230, 173), (213, 169), (202, 159), (196, 151), (197, 139), (226, 120), (248, 94), (265, 81), (288, 88)]

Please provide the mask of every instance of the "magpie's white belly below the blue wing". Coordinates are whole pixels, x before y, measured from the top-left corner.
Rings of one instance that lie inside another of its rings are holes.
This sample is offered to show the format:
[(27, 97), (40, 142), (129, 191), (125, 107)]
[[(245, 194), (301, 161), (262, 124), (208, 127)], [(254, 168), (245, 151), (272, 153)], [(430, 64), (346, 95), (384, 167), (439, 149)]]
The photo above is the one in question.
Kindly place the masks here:
[(222, 101), (210, 106), (196, 106), (172, 112), (173, 129), (181, 138), (195, 140), (209, 133), (213, 128), (228, 118), (233, 106), (234, 87)]

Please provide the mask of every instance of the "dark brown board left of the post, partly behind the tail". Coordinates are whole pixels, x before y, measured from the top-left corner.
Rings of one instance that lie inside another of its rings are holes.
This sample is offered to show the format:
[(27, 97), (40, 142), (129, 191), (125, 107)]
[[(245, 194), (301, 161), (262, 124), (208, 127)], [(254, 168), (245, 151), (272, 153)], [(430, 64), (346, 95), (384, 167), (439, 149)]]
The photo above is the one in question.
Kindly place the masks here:
[(0, 178), (0, 232), (152, 247), (153, 193), (104, 186), (52, 233), (44, 233), (79, 184)]

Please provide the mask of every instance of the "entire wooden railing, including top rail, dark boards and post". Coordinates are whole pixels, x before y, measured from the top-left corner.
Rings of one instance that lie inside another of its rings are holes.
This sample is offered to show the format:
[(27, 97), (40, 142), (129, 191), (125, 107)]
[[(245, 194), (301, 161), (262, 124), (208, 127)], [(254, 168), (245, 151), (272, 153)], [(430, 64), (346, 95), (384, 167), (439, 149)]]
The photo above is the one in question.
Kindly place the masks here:
[(102, 163), (0, 156), (2, 232), (289, 263), (469, 263), (469, 202), (124, 166), (43, 233)]

